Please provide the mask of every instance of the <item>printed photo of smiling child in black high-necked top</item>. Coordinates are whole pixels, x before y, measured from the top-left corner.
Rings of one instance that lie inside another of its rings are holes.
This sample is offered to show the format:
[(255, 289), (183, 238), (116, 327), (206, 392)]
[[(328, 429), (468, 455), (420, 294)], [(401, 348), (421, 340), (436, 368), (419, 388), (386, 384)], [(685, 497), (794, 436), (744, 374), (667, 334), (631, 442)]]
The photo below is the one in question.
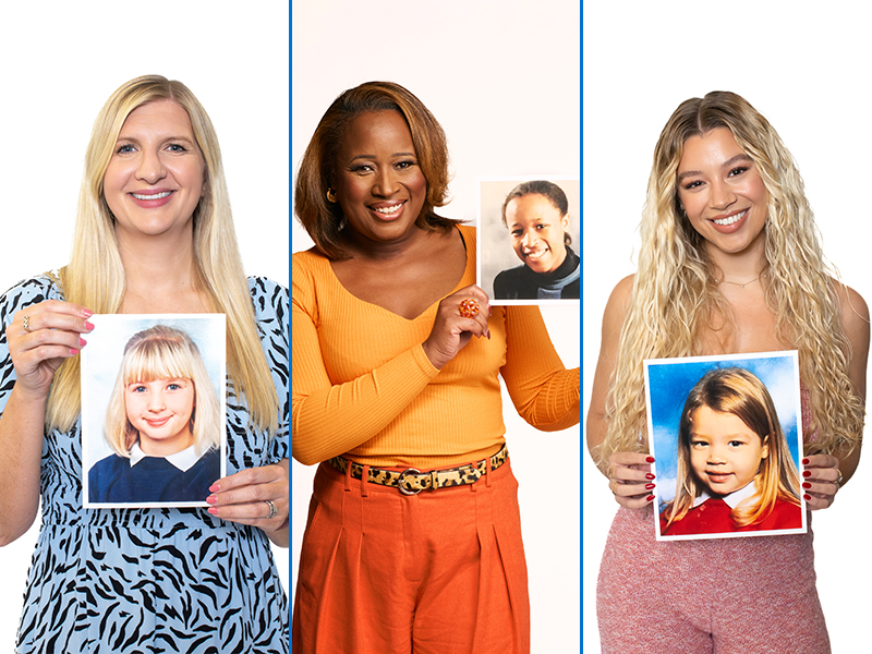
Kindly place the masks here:
[(479, 181), (479, 286), (493, 304), (548, 304), (580, 295), (578, 179)]

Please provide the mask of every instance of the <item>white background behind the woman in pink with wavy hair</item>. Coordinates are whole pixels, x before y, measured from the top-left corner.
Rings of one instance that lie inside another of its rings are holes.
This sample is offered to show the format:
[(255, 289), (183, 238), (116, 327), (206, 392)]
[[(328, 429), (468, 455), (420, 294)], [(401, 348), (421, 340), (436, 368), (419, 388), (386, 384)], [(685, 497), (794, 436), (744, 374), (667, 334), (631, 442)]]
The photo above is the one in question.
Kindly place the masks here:
[[(862, 4), (839, 1), (585, 3), (585, 413), (603, 308), (618, 280), (634, 270), (654, 145), (689, 97), (734, 90), (772, 122), (799, 164), (825, 254), (872, 302), (867, 14)], [(872, 584), (869, 479), (863, 460), (835, 505), (813, 514), (818, 590), (837, 654), (868, 647), (870, 604), (860, 589)], [(596, 574), (616, 508), (585, 456), (584, 652), (600, 651)]]

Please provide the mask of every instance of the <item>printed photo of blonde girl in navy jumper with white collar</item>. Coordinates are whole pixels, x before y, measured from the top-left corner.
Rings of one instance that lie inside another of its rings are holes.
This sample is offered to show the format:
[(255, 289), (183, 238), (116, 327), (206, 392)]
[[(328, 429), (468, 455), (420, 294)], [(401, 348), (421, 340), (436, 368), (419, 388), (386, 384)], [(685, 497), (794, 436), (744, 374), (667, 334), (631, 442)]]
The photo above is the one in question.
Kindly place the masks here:
[(85, 508), (206, 507), (225, 476), (225, 315), (94, 315), (82, 350)]

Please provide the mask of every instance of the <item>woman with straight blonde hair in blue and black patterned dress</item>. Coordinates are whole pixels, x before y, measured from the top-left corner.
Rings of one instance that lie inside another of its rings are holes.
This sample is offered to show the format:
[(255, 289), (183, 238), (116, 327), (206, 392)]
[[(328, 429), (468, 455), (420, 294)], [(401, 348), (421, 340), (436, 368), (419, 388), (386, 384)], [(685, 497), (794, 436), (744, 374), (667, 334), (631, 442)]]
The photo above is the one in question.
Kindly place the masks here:
[[(95, 313), (226, 314), (229, 475), (209, 509), (84, 509)], [(16, 652), (288, 651), (270, 547), (288, 546), (287, 316), (288, 290), (243, 272), (203, 106), (159, 75), (123, 84), (94, 124), (70, 263), (0, 298), (0, 544), (40, 498), (43, 516)]]

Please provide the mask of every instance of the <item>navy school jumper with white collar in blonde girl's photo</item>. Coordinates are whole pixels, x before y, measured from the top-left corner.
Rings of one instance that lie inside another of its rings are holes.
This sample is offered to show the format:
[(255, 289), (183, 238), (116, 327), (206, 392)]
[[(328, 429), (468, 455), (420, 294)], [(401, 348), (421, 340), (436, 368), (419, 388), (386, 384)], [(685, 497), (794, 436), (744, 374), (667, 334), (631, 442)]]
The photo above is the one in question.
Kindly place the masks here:
[(112, 455), (92, 467), (88, 497), (94, 502), (205, 501), (220, 476), (217, 448), (202, 457), (194, 446), (168, 457), (149, 457), (137, 443), (130, 459)]

